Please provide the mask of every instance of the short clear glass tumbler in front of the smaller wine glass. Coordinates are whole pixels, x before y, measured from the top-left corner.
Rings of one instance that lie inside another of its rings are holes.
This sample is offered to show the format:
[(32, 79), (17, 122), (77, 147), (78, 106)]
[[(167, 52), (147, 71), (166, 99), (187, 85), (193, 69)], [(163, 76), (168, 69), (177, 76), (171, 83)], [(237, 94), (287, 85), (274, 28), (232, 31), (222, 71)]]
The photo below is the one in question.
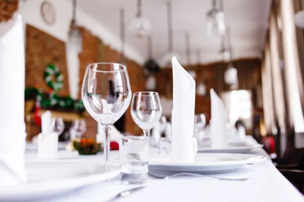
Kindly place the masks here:
[(120, 140), (119, 151), (124, 183), (137, 184), (148, 179), (149, 137), (127, 136)]

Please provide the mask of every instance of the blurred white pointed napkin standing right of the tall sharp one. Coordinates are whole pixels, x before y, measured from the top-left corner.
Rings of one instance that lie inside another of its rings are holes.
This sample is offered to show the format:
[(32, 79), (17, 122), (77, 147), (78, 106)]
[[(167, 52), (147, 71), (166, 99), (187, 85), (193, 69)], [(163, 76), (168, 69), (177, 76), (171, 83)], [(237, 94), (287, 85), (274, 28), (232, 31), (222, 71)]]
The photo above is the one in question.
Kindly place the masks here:
[(211, 133), (211, 147), (212, 148), (224, 148), (227, 145), (226, 135), (226, 110), (222, 100), (211, 89), (211, 119), (210, 122), (210, 133)]

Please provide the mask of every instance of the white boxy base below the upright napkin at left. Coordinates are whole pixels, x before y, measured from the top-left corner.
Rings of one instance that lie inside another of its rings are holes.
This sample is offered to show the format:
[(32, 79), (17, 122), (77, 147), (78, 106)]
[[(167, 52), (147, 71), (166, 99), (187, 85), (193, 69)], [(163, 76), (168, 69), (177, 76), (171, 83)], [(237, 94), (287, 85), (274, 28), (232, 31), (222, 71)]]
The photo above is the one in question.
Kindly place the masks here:
[(38, 135), (38, 159), (58, 159), (58, 133)]

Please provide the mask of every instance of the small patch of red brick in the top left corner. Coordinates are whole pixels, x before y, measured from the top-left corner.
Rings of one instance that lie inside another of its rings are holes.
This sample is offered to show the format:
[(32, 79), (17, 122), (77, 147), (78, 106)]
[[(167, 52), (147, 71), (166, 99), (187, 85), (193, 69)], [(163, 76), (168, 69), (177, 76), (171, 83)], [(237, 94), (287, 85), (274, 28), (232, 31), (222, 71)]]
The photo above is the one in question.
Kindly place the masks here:
[(19, 0), (0, 0), (0, 23), (12, 18), (13, 14), (18, 10), (18, 2)]

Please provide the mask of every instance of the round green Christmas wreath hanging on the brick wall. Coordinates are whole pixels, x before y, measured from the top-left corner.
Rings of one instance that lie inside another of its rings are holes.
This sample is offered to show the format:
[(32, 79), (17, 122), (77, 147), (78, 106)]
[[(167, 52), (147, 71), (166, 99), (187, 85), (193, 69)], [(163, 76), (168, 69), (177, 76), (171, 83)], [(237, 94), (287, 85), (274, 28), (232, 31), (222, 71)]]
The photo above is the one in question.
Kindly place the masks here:
[[(55, 77), (55, 81), (53, 81), (53, 77)], [(49, 64), (45, 68), (44, 80), (45, 80), (46, 84), (51, 89), (54, 90), (54, 92), (58, 92), (63, 87), (63, 84), (62, 84), (63, 76), (62, 76), (61, 72), (59, 71), (58, 67), (53, 64)]]

